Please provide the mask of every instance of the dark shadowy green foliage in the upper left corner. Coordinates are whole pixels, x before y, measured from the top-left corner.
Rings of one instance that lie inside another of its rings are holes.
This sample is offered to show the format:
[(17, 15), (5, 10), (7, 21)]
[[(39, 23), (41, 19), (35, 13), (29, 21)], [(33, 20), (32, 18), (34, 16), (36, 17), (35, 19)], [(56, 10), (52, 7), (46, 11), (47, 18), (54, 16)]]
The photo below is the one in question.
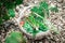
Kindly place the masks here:
[(0, 25), (15, 16), (14, 8), (23, 3), (23, 0), (0, 0)]

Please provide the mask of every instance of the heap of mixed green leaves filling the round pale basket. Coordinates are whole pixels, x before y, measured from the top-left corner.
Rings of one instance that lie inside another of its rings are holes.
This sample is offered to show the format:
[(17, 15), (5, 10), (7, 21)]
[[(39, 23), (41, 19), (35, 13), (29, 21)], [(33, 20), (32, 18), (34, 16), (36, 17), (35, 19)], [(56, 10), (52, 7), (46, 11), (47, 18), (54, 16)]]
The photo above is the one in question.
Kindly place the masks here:
[[(51, 8), (50, 8), (51, 9)], [(24, 28), (27, 32), (32, 33), (36, 35), (40, 31), (48, 31), (49, 25), (46, 25), (46, 23), (49, 23), (47, 17), (50, 16), (50, 10), (49, 4), (46, 1), (42, 1), (39, 3), (38, 6), (34, 6), (30, 11), (30, 15), (25, 18)], [(53, 12), (57, 12), (55, 8), (52, 8)]]

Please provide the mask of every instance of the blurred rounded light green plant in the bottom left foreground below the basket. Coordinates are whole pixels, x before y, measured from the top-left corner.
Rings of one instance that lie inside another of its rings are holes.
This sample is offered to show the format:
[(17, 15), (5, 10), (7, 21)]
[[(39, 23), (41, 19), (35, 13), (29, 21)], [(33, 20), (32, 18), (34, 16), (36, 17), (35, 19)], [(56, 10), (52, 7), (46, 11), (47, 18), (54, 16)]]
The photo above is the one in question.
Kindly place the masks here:
[(12, 31), (10, 35), (6, 37), (5, 43), (26, 43), (26, 40), (21, 32)]

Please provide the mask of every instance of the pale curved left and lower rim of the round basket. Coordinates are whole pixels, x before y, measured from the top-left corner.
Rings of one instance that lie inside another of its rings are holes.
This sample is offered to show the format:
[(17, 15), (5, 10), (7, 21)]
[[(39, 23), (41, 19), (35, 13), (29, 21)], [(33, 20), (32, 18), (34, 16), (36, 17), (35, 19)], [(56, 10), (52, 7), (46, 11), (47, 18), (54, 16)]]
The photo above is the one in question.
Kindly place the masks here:
[[(34, 38), (31, 33), (27, 32), (27, 31), (24, 29), (24, 27), (22, 27), (22, 26), (20, 25), (20, 22), (21, 22), (25, 16), (28, 16), (28, 14), (30, 13), (29, 10), (30, 10), (32, 6), (34, 6), (34, 5), (30, 5), (30, 6), (24, 8), (24, 10), (21, 10), (21, 11), (20, 11), (20, 12), (22, 12), (22, 13), (20, 13), (20, 16), (21, 16), (21, 17), (15, 18), (15, 19), (16, 19), (18, 26), (20, 26), (21, 31), (22, 31), (28, 39), (40, 40), (40, 39), (42, 39), (43, 37), (49, 35), (49, 34), (50, 34), (50, 30), (47, 30), (46, 32), (39, 32), (39, 33), (37, 33), (36, 37)], [(26, 12), (27, 12), (27, 13), (29, 12), (29, 13), (26, 14), (26, 15), (24, 15)]]

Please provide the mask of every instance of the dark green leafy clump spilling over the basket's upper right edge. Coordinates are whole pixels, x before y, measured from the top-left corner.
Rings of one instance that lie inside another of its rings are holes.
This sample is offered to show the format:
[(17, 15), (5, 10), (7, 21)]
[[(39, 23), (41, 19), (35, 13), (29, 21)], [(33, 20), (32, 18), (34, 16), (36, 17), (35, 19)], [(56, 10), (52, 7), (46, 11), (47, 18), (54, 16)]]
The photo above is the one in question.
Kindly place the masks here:
[(35, 12), (35, 13), (39, 14), (40, 16), (44, 17), (46, 14), (49, 15), (49, 5), (46, 1), (40, 2), (39, 6), (34, 6), (31, 9), (31, 12)]

